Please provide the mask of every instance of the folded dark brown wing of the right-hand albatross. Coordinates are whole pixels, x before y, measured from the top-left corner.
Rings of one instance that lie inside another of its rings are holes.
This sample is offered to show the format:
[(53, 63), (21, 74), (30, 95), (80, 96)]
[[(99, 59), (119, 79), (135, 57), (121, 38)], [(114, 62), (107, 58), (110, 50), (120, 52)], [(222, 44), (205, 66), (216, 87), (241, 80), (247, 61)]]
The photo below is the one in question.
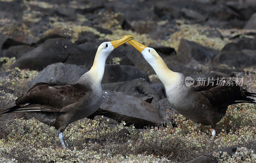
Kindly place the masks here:
[(191, 87), (209, 100), (213, 107), (225, 107), (243, 102), (255, 103), (253, 102), (255, 100), (247, 97), (255, 97), (255, 93), (250, 93), (242, 89), (235, 81), (232, 81), (230, 85), (225, 84), (227, 83), (227, 79), (225, 79), (224, 84), (219, 84), (218, 82), (218, 80), (213, 80), (209, 82), (209, 85), (208, 82), (201, 85), (201, 82), (196, 81)]

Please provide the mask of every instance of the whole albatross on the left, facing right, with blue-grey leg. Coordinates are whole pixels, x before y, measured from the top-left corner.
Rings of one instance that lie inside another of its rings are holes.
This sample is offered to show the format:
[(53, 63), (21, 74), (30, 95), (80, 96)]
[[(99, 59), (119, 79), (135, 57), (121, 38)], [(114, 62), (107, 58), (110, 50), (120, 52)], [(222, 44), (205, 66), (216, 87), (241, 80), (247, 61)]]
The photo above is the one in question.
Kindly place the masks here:
[(115, 48), (132, 39), (133, 36), (128, 35), (116, 41), (103, 42), (96, 52), (92, 68), (76, 83), (36, 83), (15, 100), (15, 106), (1, 114), (27, 112), (38, 121), (54, 126), (62, 147), (66, 148), (62, 134), (68, 124), (91, 115), (102, 103), (101, 81), (107, 57)]

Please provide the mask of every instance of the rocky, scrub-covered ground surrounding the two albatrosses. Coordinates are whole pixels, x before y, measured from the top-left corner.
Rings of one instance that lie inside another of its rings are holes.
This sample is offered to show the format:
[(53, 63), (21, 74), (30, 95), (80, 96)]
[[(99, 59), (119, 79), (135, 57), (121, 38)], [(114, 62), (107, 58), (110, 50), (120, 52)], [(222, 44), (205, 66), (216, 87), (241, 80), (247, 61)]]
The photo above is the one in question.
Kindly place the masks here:
[[(127, 34), (173, 71), (243, 77), (256, 92), (254, 0), (0, 0), (0, 110), (37, 82), (76, 82), (101, 42)], [(108, 57), (102, 88), (98, 111), (64, 132), (68, 150), (52, 127), (1, 115), (0, 162), (256, 162), (255, 105), (230, 106), (211, 141), (209, 126), (196, 129), (170, 107), (129, 44)]]

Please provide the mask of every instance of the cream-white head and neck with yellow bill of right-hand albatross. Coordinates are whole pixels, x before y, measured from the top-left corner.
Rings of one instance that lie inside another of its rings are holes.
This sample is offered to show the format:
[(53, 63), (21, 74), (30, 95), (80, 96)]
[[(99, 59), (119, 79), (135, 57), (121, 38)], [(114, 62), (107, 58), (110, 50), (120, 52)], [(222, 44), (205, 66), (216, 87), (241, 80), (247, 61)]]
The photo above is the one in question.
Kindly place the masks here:
[(159, 56), (155, 49), (149, 48), (145, 45), (140, 44), (135, 40), (128, 41), (134, 48), (136, 48), (145, 60), (150, 64), (150, 66), (155, 70), (156, 75), (164, 84), (165, 87), (168, 85), (175, 84), (177, 82), (179, 75), (177, 72), (171, 71), (164, 60)]

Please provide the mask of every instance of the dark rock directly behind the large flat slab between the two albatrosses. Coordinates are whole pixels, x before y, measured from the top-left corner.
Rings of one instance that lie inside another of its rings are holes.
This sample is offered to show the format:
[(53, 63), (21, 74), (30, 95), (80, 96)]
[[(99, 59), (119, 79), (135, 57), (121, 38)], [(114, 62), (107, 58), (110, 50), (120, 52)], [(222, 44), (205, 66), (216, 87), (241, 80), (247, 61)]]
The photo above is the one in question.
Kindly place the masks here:
[(145, 97), (143, 100), (146, 100), (149, 103), (154, 103), (161, 99), (161, 96), (156, 93), (145, 79), (142, 78), (126, 82), (102, 84), (102, 89), (124, 92), (125, 94), (134, 97)]

